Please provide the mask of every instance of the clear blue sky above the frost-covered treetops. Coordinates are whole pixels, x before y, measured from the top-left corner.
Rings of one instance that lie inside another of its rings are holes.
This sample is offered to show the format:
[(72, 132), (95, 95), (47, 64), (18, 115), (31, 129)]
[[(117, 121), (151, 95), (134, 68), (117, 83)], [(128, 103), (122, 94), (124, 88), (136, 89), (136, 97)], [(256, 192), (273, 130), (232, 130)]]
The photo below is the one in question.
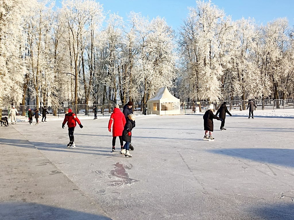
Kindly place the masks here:
[[(223, 8), (233, 20), (255, 18), (256, 22), (267, 23), (275, 18), (287, 17), (290, 26), (294, 25), (294, 1), (290, 0), (212, 0), (213, 4)], [(196, 0), (101, 0), (105, 12), (118, 12), (126, 18), (130, 11), (141, 12), (143, 16), (165, 18), (169, 26), (177, 29), (188, 15), (188, 7), (196, 7)], [(56, 6), (60, 7), (59, 0)]]

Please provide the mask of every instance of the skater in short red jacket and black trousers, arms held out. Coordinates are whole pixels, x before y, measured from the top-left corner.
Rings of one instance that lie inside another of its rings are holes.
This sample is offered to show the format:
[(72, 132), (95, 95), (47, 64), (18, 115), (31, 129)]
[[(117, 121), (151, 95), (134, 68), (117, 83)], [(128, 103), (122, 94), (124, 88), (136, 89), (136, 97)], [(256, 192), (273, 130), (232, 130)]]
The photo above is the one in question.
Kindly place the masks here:
[(83, 128), (80, 120), (78, 120), (77, 116), (71, 111), (71, 109), (66, 108), (65, 110), (65, 118), (62, 123), (62, 128), (64, 128), (65, 123), (67, 122), (67, 126), (69, 127), (69, 143), (67, 144), (68, 148), (75, 148), (76, 145), (74, 143), (74, 128), (76, 127), (76, 122)]

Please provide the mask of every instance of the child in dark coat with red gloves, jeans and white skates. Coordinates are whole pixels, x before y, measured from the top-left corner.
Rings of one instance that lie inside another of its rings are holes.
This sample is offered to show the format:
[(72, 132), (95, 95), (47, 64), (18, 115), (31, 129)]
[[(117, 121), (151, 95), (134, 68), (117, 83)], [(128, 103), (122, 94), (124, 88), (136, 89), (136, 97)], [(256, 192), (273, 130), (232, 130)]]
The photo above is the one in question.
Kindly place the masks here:
[(129, 114), (128, 118), (126, 120), (126, 124), (123, 128), (123, 134), (122, 138), (123, 141), (126, 141), (125, 145), (123, 146), (123, 149), (121, 150), (121, 154), (124, 154), (125, 156), (132, 157), (132, 155), (129, 153), (129, 145), (131, 143), (132, 139), (132, 129), (135, 127), (135, 121), (136, 117), (134, 114)]

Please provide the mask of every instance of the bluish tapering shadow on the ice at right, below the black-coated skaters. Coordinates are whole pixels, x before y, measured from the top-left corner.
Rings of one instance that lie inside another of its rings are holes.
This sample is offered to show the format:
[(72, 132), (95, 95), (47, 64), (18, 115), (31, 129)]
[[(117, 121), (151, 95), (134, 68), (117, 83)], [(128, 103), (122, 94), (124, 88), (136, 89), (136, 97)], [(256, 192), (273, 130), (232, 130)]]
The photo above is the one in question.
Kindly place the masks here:
[(294, 149), (275, 148), (226, 148), (208, 150), (210, 153), (245, 158), (263, 163), (294, 167)]

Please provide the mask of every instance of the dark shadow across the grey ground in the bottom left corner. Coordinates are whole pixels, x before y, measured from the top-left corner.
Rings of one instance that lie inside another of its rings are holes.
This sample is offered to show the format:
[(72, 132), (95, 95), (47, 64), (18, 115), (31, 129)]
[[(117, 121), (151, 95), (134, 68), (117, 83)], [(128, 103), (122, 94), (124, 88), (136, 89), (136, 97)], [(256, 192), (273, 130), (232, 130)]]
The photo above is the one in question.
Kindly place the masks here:
[(2, 203), (0, 204), (0, 219), (22, 220), (111, 220), (106, 216), (63, 209), (38, 203)]

